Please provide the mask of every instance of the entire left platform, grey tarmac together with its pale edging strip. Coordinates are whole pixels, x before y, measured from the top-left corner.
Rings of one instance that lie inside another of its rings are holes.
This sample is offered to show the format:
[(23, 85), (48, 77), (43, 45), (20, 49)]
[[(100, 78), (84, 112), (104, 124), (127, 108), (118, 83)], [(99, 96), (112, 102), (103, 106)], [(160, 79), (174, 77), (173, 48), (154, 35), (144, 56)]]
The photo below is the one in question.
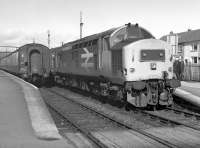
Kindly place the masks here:
[(1, 70), (0, 147), (73, 147), (59, 135), (44, 102), (40, 100), (39, 90)]

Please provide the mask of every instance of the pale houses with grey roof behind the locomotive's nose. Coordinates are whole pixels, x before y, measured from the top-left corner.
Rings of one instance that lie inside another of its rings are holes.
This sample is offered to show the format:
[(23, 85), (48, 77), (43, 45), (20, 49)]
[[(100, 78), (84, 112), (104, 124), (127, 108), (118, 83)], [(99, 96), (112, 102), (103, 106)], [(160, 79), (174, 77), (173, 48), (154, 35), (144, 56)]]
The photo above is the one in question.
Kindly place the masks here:
[(172, 46), (174, 58), (182, 58), (184, 62), (200, 64), (200, 29), (173, 33), (161, 37), (161, 40)]

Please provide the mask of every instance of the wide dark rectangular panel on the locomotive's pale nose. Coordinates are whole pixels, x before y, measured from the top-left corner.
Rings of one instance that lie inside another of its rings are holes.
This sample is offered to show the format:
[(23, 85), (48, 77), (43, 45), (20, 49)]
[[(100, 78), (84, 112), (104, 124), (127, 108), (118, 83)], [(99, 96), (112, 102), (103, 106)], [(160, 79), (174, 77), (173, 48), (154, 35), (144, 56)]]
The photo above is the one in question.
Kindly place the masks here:
[(140, 61), (165, 61), (165, 50), (141, 50)]

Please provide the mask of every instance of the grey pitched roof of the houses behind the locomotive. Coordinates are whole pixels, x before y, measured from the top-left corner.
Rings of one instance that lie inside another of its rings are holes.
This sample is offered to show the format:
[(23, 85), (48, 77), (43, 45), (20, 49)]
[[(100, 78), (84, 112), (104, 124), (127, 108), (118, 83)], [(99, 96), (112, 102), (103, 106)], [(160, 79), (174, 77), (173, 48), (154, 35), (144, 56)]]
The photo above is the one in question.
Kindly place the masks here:
[[(178, 43), (187, 43), (192, 41), (200, 41), (200, 29), (188, 30), (186, 32), (174, 33), (178, 35)], [(167, 41), (167, 35), (160, 38)]]

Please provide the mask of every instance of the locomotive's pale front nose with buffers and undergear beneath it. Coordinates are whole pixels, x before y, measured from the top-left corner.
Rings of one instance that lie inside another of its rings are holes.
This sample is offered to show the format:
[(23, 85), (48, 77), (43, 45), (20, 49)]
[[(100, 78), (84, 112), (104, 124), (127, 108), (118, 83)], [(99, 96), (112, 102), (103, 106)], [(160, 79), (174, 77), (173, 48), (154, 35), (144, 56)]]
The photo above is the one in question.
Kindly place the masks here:
[(180, 84), (172, 80), (170, 49), (170, 45), (156, 39), (140, 40), (123, 48), (128, 102), (137, 107), (172, 104), (171, 94)]

